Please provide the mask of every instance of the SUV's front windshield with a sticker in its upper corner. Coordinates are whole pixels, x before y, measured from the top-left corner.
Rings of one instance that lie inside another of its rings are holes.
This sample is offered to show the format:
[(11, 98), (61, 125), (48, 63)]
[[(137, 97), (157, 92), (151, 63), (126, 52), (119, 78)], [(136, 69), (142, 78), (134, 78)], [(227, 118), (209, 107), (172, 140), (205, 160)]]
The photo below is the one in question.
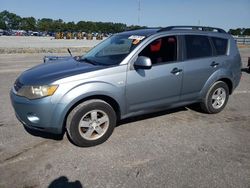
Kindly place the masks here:
[(96, 65), (117, 65), (144, 39), (144, 36), (113, 35), (80, 60)]

